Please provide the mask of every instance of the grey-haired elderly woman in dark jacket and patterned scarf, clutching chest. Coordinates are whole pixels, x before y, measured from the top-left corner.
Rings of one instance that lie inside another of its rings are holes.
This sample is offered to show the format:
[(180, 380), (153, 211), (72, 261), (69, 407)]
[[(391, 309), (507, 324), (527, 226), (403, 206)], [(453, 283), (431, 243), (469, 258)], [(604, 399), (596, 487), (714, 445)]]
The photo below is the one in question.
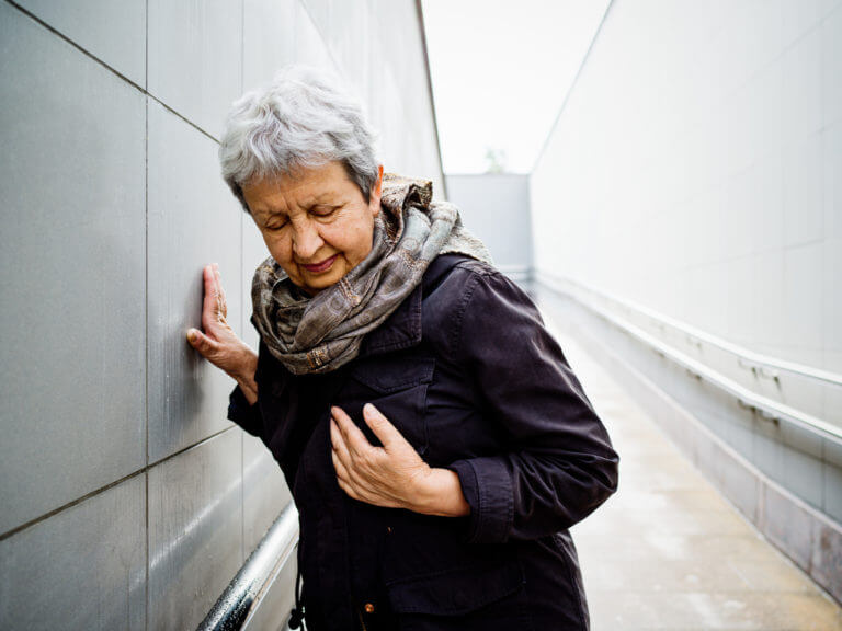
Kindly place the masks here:
[(260, 349), (213, 266), (189, 340), (292, 490), (308, 629), (587, 629), (567, 529), (618, 458), (528, 297), (314, 71), (240, 99), (219, 156), (271, 253)]

